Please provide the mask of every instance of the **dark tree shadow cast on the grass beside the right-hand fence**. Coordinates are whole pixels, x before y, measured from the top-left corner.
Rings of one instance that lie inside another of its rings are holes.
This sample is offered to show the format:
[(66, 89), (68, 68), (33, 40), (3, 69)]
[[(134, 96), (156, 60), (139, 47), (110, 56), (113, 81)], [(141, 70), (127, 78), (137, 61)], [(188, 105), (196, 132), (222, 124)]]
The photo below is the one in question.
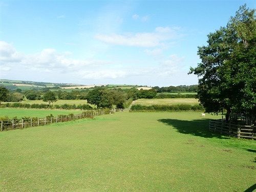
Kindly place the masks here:
[(158, 119), (158, 122), (173, 126), (179, 133), (195, 135), (205, 138), (229, 139), (228, 137), (210, 132), (209, 119), (180, 120), (180, 119)]

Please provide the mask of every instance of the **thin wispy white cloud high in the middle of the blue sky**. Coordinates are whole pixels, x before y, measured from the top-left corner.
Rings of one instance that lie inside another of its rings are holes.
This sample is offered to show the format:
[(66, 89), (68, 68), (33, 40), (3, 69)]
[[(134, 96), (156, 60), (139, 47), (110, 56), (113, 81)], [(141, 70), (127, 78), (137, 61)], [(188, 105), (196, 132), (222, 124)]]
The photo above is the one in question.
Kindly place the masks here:
[(151, 33), (97, 34), (95, 38), (112, 45), (157, 47), (164, 46), (164, 41), (177, 37), (177, 33), (177, 29), (157, 27)]

